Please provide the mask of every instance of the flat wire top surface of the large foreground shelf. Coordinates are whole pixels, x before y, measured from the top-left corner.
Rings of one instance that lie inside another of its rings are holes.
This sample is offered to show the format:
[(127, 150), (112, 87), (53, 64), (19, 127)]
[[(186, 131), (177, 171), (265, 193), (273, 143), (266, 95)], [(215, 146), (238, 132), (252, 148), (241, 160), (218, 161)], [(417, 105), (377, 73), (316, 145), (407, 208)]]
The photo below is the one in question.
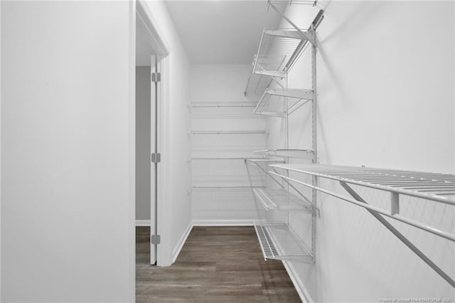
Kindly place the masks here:
[(325, 164), (286, 164), (274, 167), (455, 205), (453, 174)]

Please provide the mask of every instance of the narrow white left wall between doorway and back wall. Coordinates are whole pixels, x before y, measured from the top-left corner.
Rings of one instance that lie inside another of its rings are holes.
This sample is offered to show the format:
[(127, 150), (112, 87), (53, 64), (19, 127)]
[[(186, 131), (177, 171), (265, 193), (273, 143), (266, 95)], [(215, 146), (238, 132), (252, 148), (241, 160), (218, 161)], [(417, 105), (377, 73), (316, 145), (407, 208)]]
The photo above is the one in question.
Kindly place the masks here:
[[(158, 233), (161, 250), (158, 265), (171, 265), (191, 227), (191, 201), (188, 188), (191, 175), (188, 168), (190, 143), (188, 129), (190, 112), (190, 65), (163, 1), (147, 1), (156, 31), (166, 42), (170, 53), (164, 59), (164, 102), (161, 124), (161, 176), (159, 176)], [(162, 183), (160, 183), (162, 181)], [(160, 185), (161, 184), (161, 185)], [(164, 186), (164, 188), (163, 188)]]

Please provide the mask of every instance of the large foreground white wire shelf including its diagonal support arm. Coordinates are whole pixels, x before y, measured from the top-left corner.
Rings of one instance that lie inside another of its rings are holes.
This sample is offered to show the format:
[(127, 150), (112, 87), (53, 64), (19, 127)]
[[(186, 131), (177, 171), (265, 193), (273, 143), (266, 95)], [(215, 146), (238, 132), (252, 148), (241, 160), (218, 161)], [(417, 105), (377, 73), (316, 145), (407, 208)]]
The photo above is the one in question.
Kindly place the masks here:
[[(427, 201), (436, 203), (444, 203), (449, 206), (455, 206), (455, 175), (453, 174), (434, 174), (422, 171), (401, 171), (395, 169), (376, 169), (367, 167), (355, 166), (336, 166), (322, 164), (277, 164), (269, 166), (272, 171), (270, 174), (279, 176), (283, 180), (292, 183), (301, 184), (312, 188), (316, 191), (326, 193), (329, 196), (339, 198), (343, 201), (353, 203), (356, 206), (365, 208), (373, 217), (375, 217), (382, 225), (393, 233), (399, 240), (402, 241), (412, 252), (422, 259), (429, 267), (437, 272), (446, 282), (452, 287), (455, 287), (455, 280), (441, 270), (427, 255), (417, 248), (407, 237), (400, 233), (395, 226), (385, 220), (383, 216), (392, 218), (402, 223), (412, 225), (421, 230), (425, 230), (441, 238), (455, 242), (455, 234), (453, 230), (447, 232), (435, 228), (428, 223), (420, 220), (414, 220), (407, 216), (402, 216), (400, 213), (400, 195), (411, 196), (414, 198), (422, 198)], [(315, 184), (308, 184), (298, 179), (290, 178), (287, 175), (279, 174), (277, 171), (294, 171), (301, 174), (306, 174), (316, 178), (331, 179), (338, 181), (340, 185), (352, 197), (343, 196), (326, 188), (321, 188)], [(350, 185), (363, 186), (373, 188), (380, 191), (390, 192), (390, 209), (372, 206), (364, 198), (362, 198)]]

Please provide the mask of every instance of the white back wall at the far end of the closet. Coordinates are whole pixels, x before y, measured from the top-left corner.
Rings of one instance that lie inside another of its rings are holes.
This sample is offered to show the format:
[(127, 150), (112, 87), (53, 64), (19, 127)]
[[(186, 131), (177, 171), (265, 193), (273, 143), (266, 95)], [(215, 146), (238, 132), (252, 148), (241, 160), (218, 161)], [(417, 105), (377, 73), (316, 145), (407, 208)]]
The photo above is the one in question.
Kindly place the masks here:
[[(244, 95), (250, 64), (192, 65), (191, 102), (248, 102)], [(254, 107), (193, 108), (193, 131), (265, 130), (265, 119), (252, 115)], [(193, 158), (245, 158), (265, 149), (264, 134), (193, 134)], [(243, 159), (193, 159), (193, 186), (250, 186)], [(261, 181), (251, 171), (255, 184)], [(251, 224), (258, 210), (251, 188), (193, 188), (195, 225)]]

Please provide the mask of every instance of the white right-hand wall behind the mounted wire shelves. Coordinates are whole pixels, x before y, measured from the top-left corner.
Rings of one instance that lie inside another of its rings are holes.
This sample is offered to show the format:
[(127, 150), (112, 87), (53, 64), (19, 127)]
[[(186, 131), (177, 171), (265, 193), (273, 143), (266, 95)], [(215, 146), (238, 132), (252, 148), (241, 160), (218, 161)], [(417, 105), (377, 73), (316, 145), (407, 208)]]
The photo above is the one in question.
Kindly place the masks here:
[[(318, 30), (318, 144), (323, 164), (455, 171), (454, 2), (330, 1)], [(307, 28), (316, 10), (289, 6)], [(309, 57), (289, 87), (309, 88)], [(305, 71), (306, 70), (306, 71)], [(309, 148), (309, 107), (289, 119), (291, 148)], [(284, 146), (284, 126), (269, 119), (269, 147)], [(343, 193), (337, 184), (323, 186)], [(345, 194), (345, 193), (343, 193)], [(360, 191), (387, 208), (389, 196)], [(404, 214), (455, 230), (453, 207), (403, 198)], [(451, 298), (454, 289), (366, 211), (319, 194), (316, 265), (294, 264), (319, 302)], [(392, 221), (451, 277), (453, 243)]]

